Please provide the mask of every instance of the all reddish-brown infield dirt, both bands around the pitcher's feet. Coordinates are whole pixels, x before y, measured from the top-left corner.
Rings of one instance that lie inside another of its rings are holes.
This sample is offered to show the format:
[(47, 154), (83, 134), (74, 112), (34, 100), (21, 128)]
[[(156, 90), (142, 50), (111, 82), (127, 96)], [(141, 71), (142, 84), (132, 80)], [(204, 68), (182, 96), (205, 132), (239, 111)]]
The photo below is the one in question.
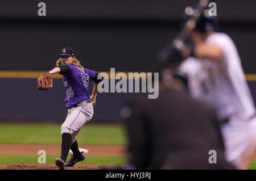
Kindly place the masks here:
[[(86, 155), (123, 156), (126, 154), (125, 145), (81, 145), (79, 148), (88, 149)], [(0, 144), (0, 154), (38, 154), (39, 150), (45, 150), (47, 154), (60, 154), (61, 145), (31, 145), (31, 144)], [(94, 170), (94, 169), (118, 169), (122, 165), (97, 165), (85, 164), (67, 167), (67, 170)], [(28, 164), (10, 163), (0, 165), (0, 170), (58, 170), (55, 164)]]

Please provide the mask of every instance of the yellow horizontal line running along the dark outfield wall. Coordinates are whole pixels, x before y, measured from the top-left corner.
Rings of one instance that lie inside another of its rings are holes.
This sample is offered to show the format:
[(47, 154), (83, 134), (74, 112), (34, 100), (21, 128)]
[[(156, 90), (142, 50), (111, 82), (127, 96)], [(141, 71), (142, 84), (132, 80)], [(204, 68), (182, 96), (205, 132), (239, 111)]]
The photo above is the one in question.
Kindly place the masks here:
[[(97, 71), (98, 73), (104, 71)], [(0, 78), (38, 78), (40, 75), (46, 73), (45, 71), (0, 71)], [(110, 71), (105, 71), (109, 75)], [(117, 74), (118, 71), (115, 72)], [(128, 77), (129, 72), (123, 72)], [(138, 72), (139, 73), (139, 72)], [(53, 78), (62, 78), (60, 74), (54, 74)], [(256, 74), (245, 74), (246, 81), (256, 81)]]

